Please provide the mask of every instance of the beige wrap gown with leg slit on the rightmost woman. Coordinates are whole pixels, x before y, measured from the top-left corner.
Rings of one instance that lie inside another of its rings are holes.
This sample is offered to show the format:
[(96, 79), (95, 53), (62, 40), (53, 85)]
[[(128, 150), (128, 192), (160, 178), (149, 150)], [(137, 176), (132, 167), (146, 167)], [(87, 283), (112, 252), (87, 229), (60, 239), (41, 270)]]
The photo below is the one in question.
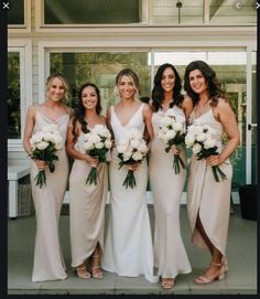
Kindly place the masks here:
[[(217, 121), (213, 108), (195, 118), (191, 115), (191, 124), (208, 125), (215, 130), (218, 152), (223, 149), (223, 125)], [(232, 167), (229, 159), (219, 165), (227, 175), (227, 180), (216, 182), (212, 167), (205, 159), (197, 160), (195, 156), (191, 160), (191, 169), (187, 182), (187, 212), (192, 228), (192, 241), (198, 247), (207, 248), (199, 232), (195, 227), (197, 215), (213, 245), (226, 257), (226, 243), (229, 224), (230, 191)], [(227, 261), (226, 261), (227, 263)]]

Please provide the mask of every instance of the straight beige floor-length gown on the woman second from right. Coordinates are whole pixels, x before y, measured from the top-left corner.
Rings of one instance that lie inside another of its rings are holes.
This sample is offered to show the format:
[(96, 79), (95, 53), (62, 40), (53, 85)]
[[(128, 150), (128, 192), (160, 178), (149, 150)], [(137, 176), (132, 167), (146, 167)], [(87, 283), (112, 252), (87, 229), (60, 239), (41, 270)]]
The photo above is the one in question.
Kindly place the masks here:
[[(177, 106), (173, 106), (175, 115), (185, 118)], [(149, 156), (149, 178), (154, 202), (154, 265), (158, 275), (163, 278), (174, 278), (177, 274), (191, 273), (191, 265), (182, 241), (180, 227), (180, 202), (186, 179), (186, 170), (175, 174), (173, 168), (174, 154), (165, 152), (165, 142), (159, 139), (159, 127), (164, 116), (160, 109), (152, 115), (154, 139)], [(186, 152), (181, 151), (181, 158), (186, 164)]]

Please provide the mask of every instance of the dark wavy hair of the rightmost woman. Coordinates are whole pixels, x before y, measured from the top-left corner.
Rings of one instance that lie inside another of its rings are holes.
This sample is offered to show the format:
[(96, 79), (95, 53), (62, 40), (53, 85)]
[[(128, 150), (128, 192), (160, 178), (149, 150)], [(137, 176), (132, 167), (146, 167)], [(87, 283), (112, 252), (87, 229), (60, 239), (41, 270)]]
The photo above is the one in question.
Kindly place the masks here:
[(215, 71), (204, 61), (194, 61), (187, 65), (184, 74), (184, 90), (193, 99), (194, 106), (197, 104), (199, 96), (198, 94), (194, 93), (191, 87), (189, 73), (195, 70), (201, 71), (203, 76), (205, 77), (206, 84), (208, 86), (208, 95), (212, 99), (212, 106), (215, 107), (217, 105), (219, 97), (228, 102), (228, 96), (226, 92), (221, 88), (221, 84), (217, 79)]

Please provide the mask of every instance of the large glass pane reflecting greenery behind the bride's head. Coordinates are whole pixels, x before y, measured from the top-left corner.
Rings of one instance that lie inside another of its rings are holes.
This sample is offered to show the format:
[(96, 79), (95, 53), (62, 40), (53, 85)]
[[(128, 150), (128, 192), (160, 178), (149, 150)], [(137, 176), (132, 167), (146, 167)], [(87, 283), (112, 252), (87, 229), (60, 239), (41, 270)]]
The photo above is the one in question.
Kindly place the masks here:
[(139, 76), (141, 97), (150, 96), (149, 53), (51, 53), (51, 73), (59, 72), (68, 81), (72, 89), (71, 107), (77, 106), (80, 85), (91, 82), (100, 89), (102, 115), (116, 103), (113, 88), (117, 74), (131, 67)]

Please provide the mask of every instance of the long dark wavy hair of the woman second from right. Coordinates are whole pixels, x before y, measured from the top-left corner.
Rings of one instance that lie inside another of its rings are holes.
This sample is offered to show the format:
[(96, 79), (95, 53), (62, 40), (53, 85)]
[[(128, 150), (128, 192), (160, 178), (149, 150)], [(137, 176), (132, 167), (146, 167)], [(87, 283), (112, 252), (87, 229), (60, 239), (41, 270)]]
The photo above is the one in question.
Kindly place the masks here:
[(158, 68), (158, 72), (156, 72), (154, 79), (153, 79), (154, 86), (152, 89), (152, 106), (155, 111), (158, 111), (159, 108), (161, 108), (161, 104), (164, 99), (164, 90), (162, 88), (161, 81), (162, 81), (163, 72), (169, 67), (172, 68), (173, 73), (175, 75), (175, 84), (174, 84), (174, 88), (173, 88), (173, 103), (170, 104), (170, 107), (172, 108), (174, 105), (181, 107), (183, 98), (184, 98), (183, 95), (181, 94), (182, 79), (181, 79), (176, 68), (170, 63), (164, 63)]

